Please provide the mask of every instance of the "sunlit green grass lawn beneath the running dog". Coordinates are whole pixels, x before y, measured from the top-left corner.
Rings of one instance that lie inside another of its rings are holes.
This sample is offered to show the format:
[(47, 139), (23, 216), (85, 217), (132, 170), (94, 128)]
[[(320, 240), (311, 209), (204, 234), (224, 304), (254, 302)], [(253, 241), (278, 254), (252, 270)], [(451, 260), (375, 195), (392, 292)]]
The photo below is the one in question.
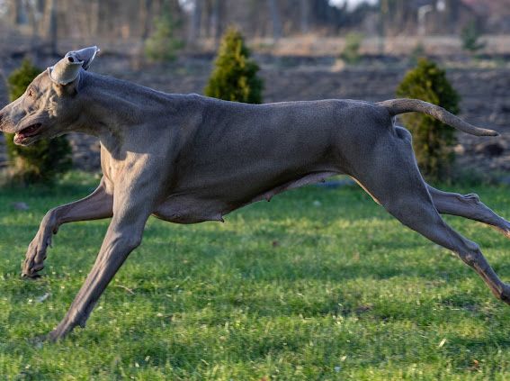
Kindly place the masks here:
[[(0, 379), (510, 379), (510, 308), (358, 187), (301, 188), (226, 223), (150, 219), (86, 329), (34, 346), (67, 311), (108, 221), (62, 226), (39, 280), (20, 278), (25, 249), (50, 207), (95, 183), (73, 174), (53, 190), (1, 190)], [(510, 189), (471, 190), (510, 215)], [(509, 240), (448, 221), (510, 278)]]

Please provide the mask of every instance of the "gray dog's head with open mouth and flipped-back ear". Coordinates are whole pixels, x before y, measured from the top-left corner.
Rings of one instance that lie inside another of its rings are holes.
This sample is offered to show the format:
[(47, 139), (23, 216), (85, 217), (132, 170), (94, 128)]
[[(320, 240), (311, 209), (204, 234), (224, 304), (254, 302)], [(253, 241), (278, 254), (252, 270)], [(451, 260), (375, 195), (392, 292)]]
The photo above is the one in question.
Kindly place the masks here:
[(14, 133), (14, 143), (23, 146), (70, 131), (82, 109), (80, 72), (90, 66), (98, 51), (95, 46), (69, 51), (40, 73), (22, 96), (0, 111), (0, 131)]

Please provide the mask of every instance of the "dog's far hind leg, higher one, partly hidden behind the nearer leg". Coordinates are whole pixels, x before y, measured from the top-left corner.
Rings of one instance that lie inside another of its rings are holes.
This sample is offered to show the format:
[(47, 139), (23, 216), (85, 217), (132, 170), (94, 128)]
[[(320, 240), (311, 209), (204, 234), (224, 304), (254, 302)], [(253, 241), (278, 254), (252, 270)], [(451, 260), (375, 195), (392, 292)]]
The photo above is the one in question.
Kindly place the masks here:
[(501, 231), (507, 238), (510, 238), (510, 222), (483, 204), (478, 195), (443, 192), (430, 185), (427, 185), (427, 189), (439, 213), (458, 215), (470, 220), (487, 223), (497, 231)]

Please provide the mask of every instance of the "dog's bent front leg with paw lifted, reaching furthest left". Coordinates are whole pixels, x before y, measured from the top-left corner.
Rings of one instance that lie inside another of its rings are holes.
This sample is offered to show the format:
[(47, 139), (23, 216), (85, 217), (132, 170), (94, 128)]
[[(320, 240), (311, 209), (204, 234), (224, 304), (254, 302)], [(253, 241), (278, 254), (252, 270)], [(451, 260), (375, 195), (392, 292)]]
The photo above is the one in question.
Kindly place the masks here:
[(37, 272), (44, 268), (44, 259), (46, 259), (46, 250), (51, 243), (51, 236), (57, 233), (61, 224), (110, 218), (112, 217), (112, 205), (112, 186), (109, 186), (103, 177), (91, 195), (74, 203), (51, 209), (40, 222), (39, 231), (27, 249), (22, 276), (35, 277)]

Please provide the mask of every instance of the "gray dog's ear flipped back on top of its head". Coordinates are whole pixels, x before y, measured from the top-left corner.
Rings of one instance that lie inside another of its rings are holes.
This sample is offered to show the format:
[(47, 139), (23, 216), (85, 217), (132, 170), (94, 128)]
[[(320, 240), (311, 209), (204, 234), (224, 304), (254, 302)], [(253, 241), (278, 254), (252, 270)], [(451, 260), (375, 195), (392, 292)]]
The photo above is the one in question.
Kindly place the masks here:
[(55, 66), (48, 68), (51, 80), (59, 85), (67, 85), (73, 82), (81, 68), (89, 68), (95, 54), (99, 51), (96, 46), (82, 50), (67, 52), (63, 59), (60, 59)]

